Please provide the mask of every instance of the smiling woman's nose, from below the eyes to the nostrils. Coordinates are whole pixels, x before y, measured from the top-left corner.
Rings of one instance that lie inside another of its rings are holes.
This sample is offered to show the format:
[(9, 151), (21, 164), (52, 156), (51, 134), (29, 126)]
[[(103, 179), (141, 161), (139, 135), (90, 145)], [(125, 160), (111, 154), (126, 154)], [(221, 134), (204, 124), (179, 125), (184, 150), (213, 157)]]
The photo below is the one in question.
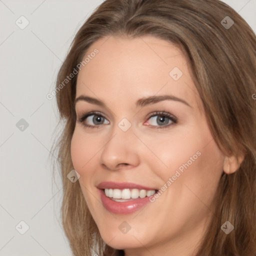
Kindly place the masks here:
[(138, 142), (132, 128), (121, 130), (118, 125), (112, 129), (111, 136), (100, 150), (100, 165), (109, 170), (132, 168), (139, 164)]

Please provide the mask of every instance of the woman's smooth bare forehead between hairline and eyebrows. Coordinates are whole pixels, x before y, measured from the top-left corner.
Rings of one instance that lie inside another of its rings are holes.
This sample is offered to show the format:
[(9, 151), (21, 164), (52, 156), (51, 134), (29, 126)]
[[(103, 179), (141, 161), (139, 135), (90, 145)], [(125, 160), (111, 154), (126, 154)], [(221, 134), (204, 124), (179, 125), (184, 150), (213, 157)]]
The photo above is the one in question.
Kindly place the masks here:
[[(98, 53), (92, 57), (94, 49)], [(196, 104), (188, 61), (169, 41), (150, 35), (104, 37), (88, 48), (83, 59), (88, 55), (89, 61), (78, 73), (76, 96), (96, 94), (135, 101), (140, 96), (171, 93)]]

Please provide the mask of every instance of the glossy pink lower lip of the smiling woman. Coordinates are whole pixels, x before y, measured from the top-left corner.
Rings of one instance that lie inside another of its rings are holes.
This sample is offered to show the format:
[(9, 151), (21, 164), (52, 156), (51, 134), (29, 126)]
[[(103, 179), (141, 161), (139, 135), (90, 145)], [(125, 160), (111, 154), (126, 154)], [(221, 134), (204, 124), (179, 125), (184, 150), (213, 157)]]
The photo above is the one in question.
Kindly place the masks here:
[(116, 202), (111, 200), (109, 197), (105, 195), (105, 192), (102, 189), (99, 189), (100, 192), (100, 198), (103, 203), (103, 206), (112, 213), (117, 214), (129, 214), (132, 213), (140, 208), (142, 208), (144, 205), (150, 202), (149, 196), (146, 196), (144, 198), (136, 198), (132, 201), (126, 201), (126, 202)]

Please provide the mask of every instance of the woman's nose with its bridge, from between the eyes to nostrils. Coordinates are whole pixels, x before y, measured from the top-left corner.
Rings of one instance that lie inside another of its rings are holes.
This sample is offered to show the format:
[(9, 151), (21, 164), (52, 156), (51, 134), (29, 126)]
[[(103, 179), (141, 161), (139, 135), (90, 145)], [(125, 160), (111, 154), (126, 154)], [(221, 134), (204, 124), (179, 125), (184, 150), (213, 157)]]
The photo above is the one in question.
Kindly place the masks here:
[(121, 119), (111, 128), (101, 151), (100, 163), (109, 169), (116, 169), (119, 164), (137, 165), (139, 156), (134, 146), (135, 139), (131, 123), (126, 118)]

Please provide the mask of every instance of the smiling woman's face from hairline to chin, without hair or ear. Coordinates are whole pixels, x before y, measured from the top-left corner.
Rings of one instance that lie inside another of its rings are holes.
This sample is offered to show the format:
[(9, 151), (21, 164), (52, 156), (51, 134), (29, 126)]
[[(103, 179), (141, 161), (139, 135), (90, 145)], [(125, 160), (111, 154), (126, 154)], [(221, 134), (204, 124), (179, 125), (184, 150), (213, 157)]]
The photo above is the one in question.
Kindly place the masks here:
[(186, 255), (215, 217), (224, 159), (187, 59), (149, 35), (105, 37), (86, 56), (75, 111), (96, 113), (76, 122), (71, 157), (101, 237), (127, 255)]

